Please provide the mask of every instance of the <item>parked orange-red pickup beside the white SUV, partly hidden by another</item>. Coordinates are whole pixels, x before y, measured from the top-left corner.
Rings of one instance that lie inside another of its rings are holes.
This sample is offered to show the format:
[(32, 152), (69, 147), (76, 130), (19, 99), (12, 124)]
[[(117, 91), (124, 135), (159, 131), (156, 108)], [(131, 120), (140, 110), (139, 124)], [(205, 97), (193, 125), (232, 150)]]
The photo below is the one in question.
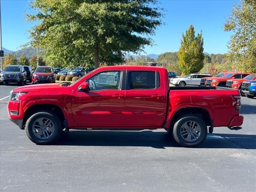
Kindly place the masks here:
[(248, 76), (250, 73), (228, 73), (223, 77), (213, 77), (206, 80), (206, 86), (226, 87), (226, 82), (229, 79), (238, 79)]

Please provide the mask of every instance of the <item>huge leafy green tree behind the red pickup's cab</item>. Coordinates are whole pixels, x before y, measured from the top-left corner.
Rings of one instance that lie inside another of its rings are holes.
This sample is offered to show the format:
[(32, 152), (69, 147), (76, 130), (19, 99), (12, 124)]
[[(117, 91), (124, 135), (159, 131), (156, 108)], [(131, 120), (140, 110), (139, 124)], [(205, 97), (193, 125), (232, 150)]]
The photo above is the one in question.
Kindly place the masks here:
[(141, 52), (152, 45), (149, 35), (162, 24), (156, 0), (34, 0), (39, 22), (30, 30), (30, 44), (43, 48), (46, 60), (79, 66), (123, 61), (122, 51)]

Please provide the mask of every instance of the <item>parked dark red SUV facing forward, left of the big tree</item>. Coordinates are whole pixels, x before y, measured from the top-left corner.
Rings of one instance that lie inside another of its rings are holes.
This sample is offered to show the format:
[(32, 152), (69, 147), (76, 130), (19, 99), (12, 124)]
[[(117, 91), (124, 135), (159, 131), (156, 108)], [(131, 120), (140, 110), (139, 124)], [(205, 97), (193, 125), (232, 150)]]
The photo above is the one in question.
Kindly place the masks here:
[(32, 75), (32, 84), (55, 83), (54, 70), (50, 66), (38, 66)]

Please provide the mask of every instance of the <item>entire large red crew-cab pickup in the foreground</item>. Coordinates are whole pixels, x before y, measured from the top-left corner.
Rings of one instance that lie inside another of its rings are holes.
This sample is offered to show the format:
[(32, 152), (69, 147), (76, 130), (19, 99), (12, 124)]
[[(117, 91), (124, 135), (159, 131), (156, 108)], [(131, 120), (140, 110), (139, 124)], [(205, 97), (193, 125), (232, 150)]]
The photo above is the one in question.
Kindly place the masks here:
[(204, 141), (208, 127), (241, 129), (240, 98), (229, 88), (169, 87), (162, 67), (108, 66), (72, 84), (16, 88), (8, 114), (36, 144), (54, 142), (69, 129), (164, 128), (181, 146), (193, 147)]

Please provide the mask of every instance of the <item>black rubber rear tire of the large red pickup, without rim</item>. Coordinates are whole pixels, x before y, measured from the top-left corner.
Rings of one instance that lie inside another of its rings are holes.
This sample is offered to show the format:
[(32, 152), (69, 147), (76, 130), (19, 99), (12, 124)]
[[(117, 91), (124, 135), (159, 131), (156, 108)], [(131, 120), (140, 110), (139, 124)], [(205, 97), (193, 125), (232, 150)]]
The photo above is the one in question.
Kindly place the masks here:
[[(201, 128), (200, 136), (195, 141), (191, 141), (191, 142), (188, 142), (184, 138), (182, 138), (181, 133), (180, 133), (182, 125), (189, 121), (196, 122)], [(195, 147), (195, 146), (200, 145), (202, 142), (204, 142), (204, 140), (207, 136), (207, 132), (208, 132), (208, 130), (207, 130), (206, 123), (204, 122), (204, 120), (201, 117), (199, 117), (197, 115), (186, 114), (184, 116), (181, 116), (180, 119), (174, 124), (172, 134), (173, 134), (174, 140), (179, 145), (181, 145), (183, 147)]]

